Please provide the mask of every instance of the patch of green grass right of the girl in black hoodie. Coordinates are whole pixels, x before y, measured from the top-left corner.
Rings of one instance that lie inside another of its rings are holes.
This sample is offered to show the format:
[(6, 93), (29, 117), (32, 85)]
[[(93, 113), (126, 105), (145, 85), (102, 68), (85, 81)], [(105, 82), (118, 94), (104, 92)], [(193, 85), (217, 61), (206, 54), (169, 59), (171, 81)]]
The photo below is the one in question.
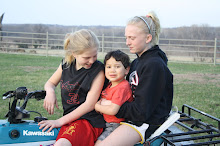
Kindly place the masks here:
[(188, 104), (220, 118), (219, 65), (170, 63), (169, 68), (174, 74), (173, 103), (179, 110)]

